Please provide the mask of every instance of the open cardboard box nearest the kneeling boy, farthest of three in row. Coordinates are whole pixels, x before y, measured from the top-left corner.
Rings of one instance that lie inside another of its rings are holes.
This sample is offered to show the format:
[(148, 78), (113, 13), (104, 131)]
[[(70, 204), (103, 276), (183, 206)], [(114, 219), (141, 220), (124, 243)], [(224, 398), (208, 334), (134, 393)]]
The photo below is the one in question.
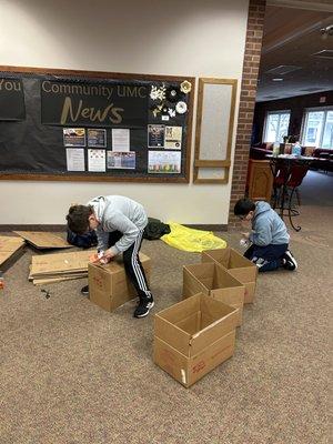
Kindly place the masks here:
[(254, 301), (258, 269), (253, 262), (230, 248), (203, 251), (201, 261), (214, 261), (224, 266), (230, 274), (245, 285), (244, 304)]

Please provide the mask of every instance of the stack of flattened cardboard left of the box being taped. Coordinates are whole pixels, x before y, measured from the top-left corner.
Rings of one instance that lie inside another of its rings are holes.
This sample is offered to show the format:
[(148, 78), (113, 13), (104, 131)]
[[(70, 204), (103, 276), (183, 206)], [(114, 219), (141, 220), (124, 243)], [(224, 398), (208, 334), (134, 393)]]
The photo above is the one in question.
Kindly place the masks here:
[(29, 280), (41, 285), (87, 278), (91, 250), (32, 256)]

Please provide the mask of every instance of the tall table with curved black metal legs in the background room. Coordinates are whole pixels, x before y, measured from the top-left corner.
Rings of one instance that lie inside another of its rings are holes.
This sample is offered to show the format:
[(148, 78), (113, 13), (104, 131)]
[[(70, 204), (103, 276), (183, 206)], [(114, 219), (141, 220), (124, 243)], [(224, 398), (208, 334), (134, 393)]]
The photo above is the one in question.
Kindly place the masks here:
[[(292, 155), (292, 154), (280, 154), (280, 155), (272, 155), (268, 154), (268, 159), (270, 159), (270, 167), (272, 174), (274, 176), (274, 183), (276, 183), (279, 172), (283, 171), (283, 179), (280, 183), (281, 191), (278, 194), (276, 185), (274, 185), (274, 202), (273, 208), (280, 210), (280, 216), (283, 220), (284, 215), (289, 216), (290, 223), (295, 231), (300, 231), (300, 225), (294, 225), (292, 218), (300, 215), (300, 211), (293, 206), (292, 198), (296, 188), (302, 183), (303, 178), (305, 176), (311, 163), (315, 160), (315, 158), (305, 157), (305, 155)], [(292, 170), (293, 167), (301, 165), (305, 168), (305, 173), (303, 176), (300, 178), (300, 183), (292, 186), (291, 194), (289, 195), (289, 182), (292, 179)], [(286, 206), (287, 203), (287, 206)]]

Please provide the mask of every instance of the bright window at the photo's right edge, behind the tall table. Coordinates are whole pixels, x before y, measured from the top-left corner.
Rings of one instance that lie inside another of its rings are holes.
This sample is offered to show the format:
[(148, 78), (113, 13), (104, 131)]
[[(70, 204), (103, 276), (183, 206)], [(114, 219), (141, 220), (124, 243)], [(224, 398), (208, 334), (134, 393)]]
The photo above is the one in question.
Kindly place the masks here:
[(333, 150), (333, 108), (315, 108), (305, 112), (302, 144)]

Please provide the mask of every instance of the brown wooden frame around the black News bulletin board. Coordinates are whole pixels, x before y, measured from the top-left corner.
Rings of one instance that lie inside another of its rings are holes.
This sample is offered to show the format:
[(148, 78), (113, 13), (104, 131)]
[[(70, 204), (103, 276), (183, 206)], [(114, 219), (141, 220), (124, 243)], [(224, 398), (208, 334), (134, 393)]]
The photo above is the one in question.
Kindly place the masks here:
[(99, 174), (93, 172), (87, 172), (85, 174), (73, 174), (71, 172), (64, 172), (63, 174), (40, 174), (40, 173), (1, 173), (1, 180), (30, 180), (30, 181), (61, 181), (61, 182), (137, 182), (137, 183), (189, 183), (191, 172), (191, 152), (192, 152), (192, 122), (193, 122), (193, 103), (194, 103), (194, 91), (195, 91), (195, 78), (184, 75), (160, 75), (160, 74), (139, 74), (139, 73), (120, 73), (120, 72), (107, 72), (107, 71), (84, 71), (84, 70), (68, 70), (68, 69), (54, 69), (54, 68), (34, 68), (34, 67), (12, 67), (12, 65), (0, 65), (0, 73), (33, 73), (33, 74), (60, 74), (68, 77), (84, 77), (84, 78), (102, 78), (102, 79), (124, 79), (124, 80), (148, 80), (148, 81), (170, 81), (181, 82), (188, 80), (192, 84), (191, 92), (189, 93), (189, 112), (186, 123), (186, 153), (185, 153), (185, 165), (184, 176), (179, 178), (174, 175), (149, 175), (135, 176), (135, 175), (108, 175)]

